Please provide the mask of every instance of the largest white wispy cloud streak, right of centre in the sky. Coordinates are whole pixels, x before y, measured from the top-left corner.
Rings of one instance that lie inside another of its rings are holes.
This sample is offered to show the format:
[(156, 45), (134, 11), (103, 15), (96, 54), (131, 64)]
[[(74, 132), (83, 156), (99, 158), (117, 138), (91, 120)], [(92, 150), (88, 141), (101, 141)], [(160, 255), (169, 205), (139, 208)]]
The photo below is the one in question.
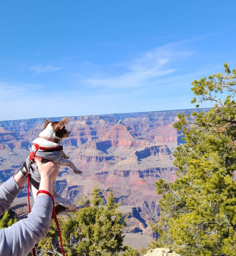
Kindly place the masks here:
[(177, 67), (172, 64), (180, 59), (188, 58), (193, 52), (175, 49), (173, 45), (158, 47), (140, 54), (125, 65), (125, 71), (116, 76), (103, 74), (83, 80), (83, 83), (91, 87), (141, 87), (153, 80), (171, 74)]

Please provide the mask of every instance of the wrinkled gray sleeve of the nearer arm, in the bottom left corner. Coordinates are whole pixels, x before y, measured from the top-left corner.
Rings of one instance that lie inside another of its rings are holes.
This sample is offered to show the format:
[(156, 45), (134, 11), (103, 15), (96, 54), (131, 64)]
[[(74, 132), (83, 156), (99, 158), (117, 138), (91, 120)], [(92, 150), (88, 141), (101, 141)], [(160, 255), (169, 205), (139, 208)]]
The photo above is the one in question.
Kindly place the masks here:
[(26, 219), (0, 230), (0, 255), (26, 256), (49, 231), (52, 210), (52, 198), (44, 195), (36, 197)]

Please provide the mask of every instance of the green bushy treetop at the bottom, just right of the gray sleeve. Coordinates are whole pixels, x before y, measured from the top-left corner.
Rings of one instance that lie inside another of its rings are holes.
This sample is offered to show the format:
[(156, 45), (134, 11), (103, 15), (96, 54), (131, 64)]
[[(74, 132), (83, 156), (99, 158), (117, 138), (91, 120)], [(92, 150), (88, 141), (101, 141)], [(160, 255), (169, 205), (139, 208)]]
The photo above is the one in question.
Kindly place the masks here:
[[(115, 202), (114, 193), (110, 190), (105, 198), (98, 186), (92, 190), (90, 206), (72, 214), (73, 219), (58, 218), (61, 228), (63, 247), (68, 256), (118, 256), (125, 251), (124, 256), (138, 256), (136, 250), (123, 246), (126, 218), (117, 208), (120, 204)], [(80, 200), (83, 204), (83, 198)], [(59, 247), (58, 232), (55, 222), (52, 221), (50, 231), (46, 238), (39, 243), (45, 255), (49, 253), (62, 255)], [(132, 254), (133, 253), (133, 254)]]

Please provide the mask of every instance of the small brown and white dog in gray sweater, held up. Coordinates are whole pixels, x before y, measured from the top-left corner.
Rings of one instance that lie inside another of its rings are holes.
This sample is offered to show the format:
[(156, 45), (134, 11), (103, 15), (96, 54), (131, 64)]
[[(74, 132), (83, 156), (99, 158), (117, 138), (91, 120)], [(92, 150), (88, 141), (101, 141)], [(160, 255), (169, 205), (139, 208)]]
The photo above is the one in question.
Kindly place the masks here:
[[(50, 122), (49, 119), (46, 119), (44, 130), (39, 134), (37, 139), (33, 140), (33, 145), (30, 151), (31, 154), (33, 152), (42, 163), (54, 161), (58, 166), (68, 166), (74, 173), (81, 174), (82, 172), (75, 167), (74, 163), (68, 160), (69, 157), (63, 152), (61, 146), (62, 139), (70, 136), (70, 131), (65, 128), (68, 121), (68, 117), (63, 118), (59, 122)], [(30, 190), (33, 200), (35, 200), (40, 182), (40, 174), (37, 170), (37, 165), (34, 160), (28, 157), (23, 166), (25, 169), (28, 169), (30, 174)], [(55, 180), (53, 180), (53, 187), (55, 186)], [(53, 191), (55, 211), (57, 215), (66, 215), (71, 218), (71, 215), (68, 212), (77, 212), (78, 210), (89, 206), (89, 200), (82, 206), (75, 206), (68, 199), (59, 197), (55, 191), (55, 187)]]

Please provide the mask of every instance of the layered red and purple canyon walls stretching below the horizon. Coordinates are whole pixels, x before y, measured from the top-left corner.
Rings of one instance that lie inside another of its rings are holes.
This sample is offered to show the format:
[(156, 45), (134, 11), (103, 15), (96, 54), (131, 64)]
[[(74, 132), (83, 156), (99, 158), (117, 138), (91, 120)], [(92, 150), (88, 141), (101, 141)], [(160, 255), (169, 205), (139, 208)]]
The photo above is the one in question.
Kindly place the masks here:
[[(205, 109), (201, 109), (205, 111)], [(106, 193), (114, 189), (120, 210), (129, 215), (124, 243), (140, 249), (153, 239), (150, 222), (159, 213), (160, 195), (155, 182), (176, 179), (173, 152), (183, 143), (173, 128), (178, 113), (193, 109), (70, 117), (70, 137), (63, 149), (83, 174), (61, 167), (56, 191), (75, 204), (81, 196), (89, 198), (94, 184)], [(61, 117), (50, 118), (59, 121)], [(0, 182), (19, 170), (29, 154), (31, 143), (45, 118), (0, 121)], [(24, 217), (26, 188), (18, 195), (12, 210)]]

